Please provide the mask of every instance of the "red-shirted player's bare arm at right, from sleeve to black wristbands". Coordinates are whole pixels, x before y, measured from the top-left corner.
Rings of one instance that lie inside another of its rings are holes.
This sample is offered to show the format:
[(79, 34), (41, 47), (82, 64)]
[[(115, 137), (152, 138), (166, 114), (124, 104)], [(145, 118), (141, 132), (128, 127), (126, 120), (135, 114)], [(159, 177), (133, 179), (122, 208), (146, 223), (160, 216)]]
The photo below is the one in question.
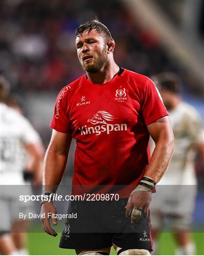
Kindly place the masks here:
[(168, 116), (148, 125), (147, 128), (156, 146), (145, 176), (158, 183), (165, 173), (173, 154), (174, 136)]

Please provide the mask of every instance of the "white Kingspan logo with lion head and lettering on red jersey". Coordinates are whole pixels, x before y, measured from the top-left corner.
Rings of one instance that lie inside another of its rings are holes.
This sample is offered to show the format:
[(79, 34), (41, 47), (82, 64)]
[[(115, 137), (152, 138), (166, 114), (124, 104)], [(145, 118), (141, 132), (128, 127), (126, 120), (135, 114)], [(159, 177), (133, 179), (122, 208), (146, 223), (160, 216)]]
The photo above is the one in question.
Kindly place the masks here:
[(92, 133), (96, 133), (96, 135), (100, 135), (102, 132), (106, 134), (110, 134), (112, 131), (126, 131), (126, 124), (110, 124), (112, 121), (116, 121), (117, 118), (112, 116), (110, 113), (101, 110), (98, 111), (91, 119), (88, 119), (87, 122), (91, 123), (94, 126), (87, 127), (87, 125), (79, 127), (81, 135), (88, 135)]

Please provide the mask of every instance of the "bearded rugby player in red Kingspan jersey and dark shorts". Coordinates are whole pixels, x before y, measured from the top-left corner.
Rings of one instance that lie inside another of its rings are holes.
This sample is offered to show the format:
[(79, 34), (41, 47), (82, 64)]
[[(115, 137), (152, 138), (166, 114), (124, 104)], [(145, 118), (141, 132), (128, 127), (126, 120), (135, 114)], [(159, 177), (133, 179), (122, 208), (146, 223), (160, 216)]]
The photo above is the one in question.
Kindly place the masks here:
[[(91, 204), (91, 209), (86, 201), (71, 202), (68, 212), (77, 209), (81, 218), (66, 220), (60, 247), (74, 248), (80, 255), (108, 255), (113, 245), (118, 255), (150, 255), (151, 193), (174, 148), (168, 112), (148, 77), (115, 63), (115, 41), (104, 24), (92, 20), (81, 25), (75, 43), (86, 74), (65, 86), (57, 97), (53, 134), (44, 160), (44, 195), (56, 192), (61, 182), (72, 138), (77, 143), (73, 186), (104, 185), (107, 191), (105, 185), (126, 185), (127, 189), (113, 207), (108, 208), (109, 202), (104, 201), (110, 217), (100, 203), (96, 207)], [(151, 162), (150, 135), (156, 143)], [(56, 213), (56, 208), (51, 201), (41, 205), (44, 231), (55, 237), (46, 216)], [(56, 225), (57, 219), (52, 223)], [(98, 232), (84, 233), (80, 230), (83, 225), (87, 229), (96, 225)], [(110, 230), (114, 226), (115, 232), (100, 232), (105, 225)], [(116, 232), (120, 227), (123, 231)], [(78, 232), (72, 232), (74, 228), (79, 228)]]

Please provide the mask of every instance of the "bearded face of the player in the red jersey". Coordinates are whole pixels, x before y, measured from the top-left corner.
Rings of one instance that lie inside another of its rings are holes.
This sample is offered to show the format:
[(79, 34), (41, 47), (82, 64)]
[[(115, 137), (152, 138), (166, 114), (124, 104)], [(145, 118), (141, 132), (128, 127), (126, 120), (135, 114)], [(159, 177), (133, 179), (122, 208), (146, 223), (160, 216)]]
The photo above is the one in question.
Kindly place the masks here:
[(76, 38), (77, 55), (82, 68), (86, 72), (96, 73), (108, 60), (104, 38), (95, 29), (87, 30)]

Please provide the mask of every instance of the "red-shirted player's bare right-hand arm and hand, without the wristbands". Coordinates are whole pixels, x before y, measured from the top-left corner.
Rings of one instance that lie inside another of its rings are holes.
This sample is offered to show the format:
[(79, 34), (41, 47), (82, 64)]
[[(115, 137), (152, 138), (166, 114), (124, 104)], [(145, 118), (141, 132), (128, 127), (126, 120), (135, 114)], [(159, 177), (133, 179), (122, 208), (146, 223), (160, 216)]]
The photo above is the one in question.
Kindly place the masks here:
[[(174, 136), (169, 117), (158, 119), (156, 122), (148, 125), (147, 128), (156, 146), (145, 176), (158, 183), (166, 171), (171, 155), (173, 154)], [(135, 219), (141, 216), (142, 210), (144, 210), (144, 216), (147, 218), (151, 203), (151, 192), (138, 190), (137, 192), (133, 192), (129, 199), (125, 207), (126, 217), (132, 211), (131, 222), (133, 223)]]

